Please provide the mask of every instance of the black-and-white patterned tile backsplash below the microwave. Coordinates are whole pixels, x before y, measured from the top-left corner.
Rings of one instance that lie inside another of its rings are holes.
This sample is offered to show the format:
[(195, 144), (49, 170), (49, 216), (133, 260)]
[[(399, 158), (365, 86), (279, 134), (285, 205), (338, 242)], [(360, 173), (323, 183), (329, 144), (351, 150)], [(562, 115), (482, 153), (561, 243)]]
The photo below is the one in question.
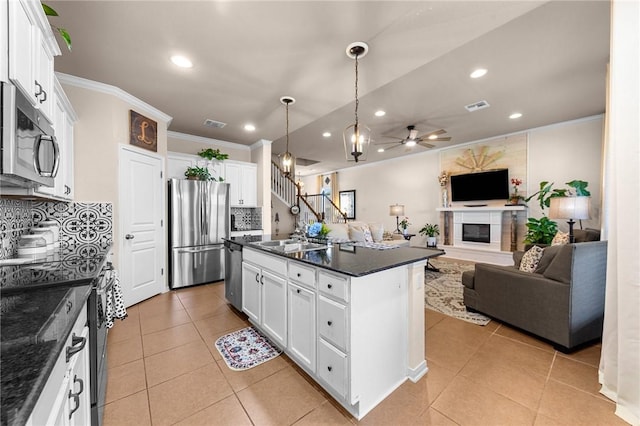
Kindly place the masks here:
[(20, 236), (43, 220), (60, 226), (60, 246), (92, 244), (105, 247), (113, 241), (111, 203), (64, 203), (0, 198), (0, 259), (15, 257)]

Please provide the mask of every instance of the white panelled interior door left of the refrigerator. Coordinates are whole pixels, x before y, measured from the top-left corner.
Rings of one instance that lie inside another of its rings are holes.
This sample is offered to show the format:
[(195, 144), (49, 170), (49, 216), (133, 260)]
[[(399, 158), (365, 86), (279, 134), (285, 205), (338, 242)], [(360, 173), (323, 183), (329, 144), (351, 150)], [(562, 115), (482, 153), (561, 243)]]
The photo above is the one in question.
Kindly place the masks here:
[(166, 289), (163, 160), (120, 147), (120, 281), (126, 306)]

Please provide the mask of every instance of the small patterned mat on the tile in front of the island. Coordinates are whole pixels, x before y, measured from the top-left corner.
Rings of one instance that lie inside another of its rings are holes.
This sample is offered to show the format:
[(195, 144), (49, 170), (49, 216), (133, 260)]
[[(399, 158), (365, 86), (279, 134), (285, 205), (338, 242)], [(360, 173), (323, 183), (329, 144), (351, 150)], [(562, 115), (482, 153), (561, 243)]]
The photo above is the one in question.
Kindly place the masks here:
[(282, 351), (253, 327), (225, 334), (215, 343), (232, 370), (247, 370), (280, 355)]

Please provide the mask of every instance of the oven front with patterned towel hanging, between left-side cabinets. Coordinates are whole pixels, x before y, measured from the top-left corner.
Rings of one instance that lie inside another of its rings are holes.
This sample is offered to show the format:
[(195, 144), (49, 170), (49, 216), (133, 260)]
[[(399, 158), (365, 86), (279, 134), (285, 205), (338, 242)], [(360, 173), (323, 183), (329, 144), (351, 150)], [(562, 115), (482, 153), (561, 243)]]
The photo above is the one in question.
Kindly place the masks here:
[(93, 283), (89, 296), (89, 358), (91, 377), (91, 424), (100, 426), (107, 391), (107, 297), (114, 278), (113, 266), (107, 262)]

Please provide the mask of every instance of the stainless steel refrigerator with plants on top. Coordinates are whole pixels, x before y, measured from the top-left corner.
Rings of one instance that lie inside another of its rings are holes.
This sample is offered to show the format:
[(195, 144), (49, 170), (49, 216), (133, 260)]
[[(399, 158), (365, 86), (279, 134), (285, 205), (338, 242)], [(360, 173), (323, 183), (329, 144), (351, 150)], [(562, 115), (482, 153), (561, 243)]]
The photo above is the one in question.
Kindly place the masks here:
[(169, 287), (224, 279), (229, 184), (169, 180)]

